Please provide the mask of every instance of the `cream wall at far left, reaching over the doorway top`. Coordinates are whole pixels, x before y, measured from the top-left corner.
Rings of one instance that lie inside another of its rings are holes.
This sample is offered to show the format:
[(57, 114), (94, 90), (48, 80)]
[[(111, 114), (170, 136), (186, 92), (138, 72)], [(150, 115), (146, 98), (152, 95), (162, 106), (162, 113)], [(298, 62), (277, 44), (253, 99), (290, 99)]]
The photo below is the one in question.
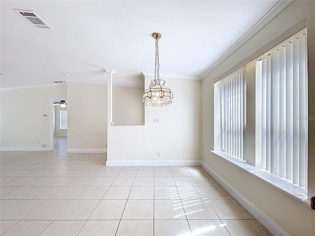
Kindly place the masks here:
[(1, 90), (1, 148), (49, 147), (50, 98), (66, 97), (66, 88)]

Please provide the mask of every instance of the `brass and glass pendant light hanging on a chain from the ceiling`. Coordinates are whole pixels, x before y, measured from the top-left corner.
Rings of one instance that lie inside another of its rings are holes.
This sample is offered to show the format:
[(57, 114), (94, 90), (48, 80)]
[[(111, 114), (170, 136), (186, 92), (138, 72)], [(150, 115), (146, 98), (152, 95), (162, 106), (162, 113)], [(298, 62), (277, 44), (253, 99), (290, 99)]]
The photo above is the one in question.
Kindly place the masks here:
[(149, 89), (144, 91), (142, 101), (146, 106), (166, 106), (172, 103), (173, 93), (171, 92), (171, 89), (164, 86), (165, 81), (159, 79), (158, 39), (160, 39), (162, 35), (160, 33), (153, 33), (152, 37), (156, 40), (154, 80), (151, 81)]

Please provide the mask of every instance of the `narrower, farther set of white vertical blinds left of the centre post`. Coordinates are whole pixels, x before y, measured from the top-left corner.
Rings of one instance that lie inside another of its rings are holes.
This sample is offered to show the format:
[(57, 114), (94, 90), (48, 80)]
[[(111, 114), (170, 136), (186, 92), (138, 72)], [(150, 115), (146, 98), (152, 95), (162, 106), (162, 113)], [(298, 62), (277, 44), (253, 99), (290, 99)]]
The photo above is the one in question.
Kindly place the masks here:
[(221, 81), (222, 149), (243, 160), (245, 69)]

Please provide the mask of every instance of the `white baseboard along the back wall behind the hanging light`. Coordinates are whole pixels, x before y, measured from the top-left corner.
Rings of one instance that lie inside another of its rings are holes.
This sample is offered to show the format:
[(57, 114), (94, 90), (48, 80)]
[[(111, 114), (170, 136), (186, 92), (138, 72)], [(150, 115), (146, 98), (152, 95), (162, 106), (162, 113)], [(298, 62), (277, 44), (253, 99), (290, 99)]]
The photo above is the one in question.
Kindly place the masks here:
[(201, 166), (201, 161), (106, 161), (106, 166)]

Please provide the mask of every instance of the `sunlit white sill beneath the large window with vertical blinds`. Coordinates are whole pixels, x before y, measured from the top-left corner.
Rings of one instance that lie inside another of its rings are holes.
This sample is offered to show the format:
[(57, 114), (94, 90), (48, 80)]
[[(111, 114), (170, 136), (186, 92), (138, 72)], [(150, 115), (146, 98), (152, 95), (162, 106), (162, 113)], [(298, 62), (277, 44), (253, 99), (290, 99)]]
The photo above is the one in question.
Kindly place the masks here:
[(289, 182), (286, 179), (277, 177), (273, 174), (270, 174), (269, 171), (266, 171), (265, 169), (261, 169), (259, 167), (252, 166), (251, 164), (246, 163), (245, 161), (242, 161), (234, 156), (231, 156), (223, 151), (214, 151), (210, 150), (213, 153), (221, 156), (225, 160), (229, 161), (230, 163), (234, 164), (238, 168), (248, 172), (254, 177), (259, 178), (260, 180), (264, 181), (265, 183), (279, 189), (287, 196), (298, 200), (299, 202), (303, 203), (306, 207), (311, 209), (310, 200), (307, 199), (307, 190), (304, 188), (301, 188), (291, 182)]

